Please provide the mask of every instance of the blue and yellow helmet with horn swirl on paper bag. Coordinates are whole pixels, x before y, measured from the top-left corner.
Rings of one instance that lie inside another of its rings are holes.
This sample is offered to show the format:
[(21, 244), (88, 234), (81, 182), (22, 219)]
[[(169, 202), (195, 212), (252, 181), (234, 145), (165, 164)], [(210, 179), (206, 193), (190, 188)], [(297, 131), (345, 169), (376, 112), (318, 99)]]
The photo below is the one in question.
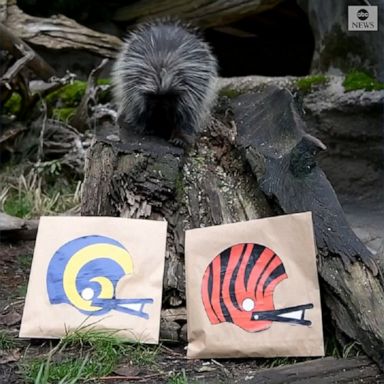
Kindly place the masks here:
[(47, 271), (51, 304), (67, 303), (86, 315), (116, 310), (148, 318), (144, 305), (153, 299), (117, 299), (116, 285), (133, 273), (129, 252), (118, 241), (99, 235), (83, 236), (62, 245)]

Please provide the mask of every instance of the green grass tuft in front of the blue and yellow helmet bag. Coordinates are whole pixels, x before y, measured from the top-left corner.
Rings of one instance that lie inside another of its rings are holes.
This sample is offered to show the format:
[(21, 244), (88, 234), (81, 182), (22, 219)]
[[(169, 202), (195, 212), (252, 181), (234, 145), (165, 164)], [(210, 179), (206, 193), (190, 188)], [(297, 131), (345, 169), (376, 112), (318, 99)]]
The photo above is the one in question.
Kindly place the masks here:
[(108, 376), (124, 360), (139, 366), (156, 365), (158, 348), (128, 344), (114, 332), (79, 330), (69, 333), (44, 359), (21, 365), (28, 383), (78, 383)]

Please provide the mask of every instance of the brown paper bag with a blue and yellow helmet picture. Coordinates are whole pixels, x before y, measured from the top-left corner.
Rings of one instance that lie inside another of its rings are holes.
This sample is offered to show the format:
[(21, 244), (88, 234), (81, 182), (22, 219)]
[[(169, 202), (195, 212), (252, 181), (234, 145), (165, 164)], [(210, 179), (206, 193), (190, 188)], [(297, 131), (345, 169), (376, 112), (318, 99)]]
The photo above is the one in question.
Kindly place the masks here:
[(166, 233), (165, 221), (42, 217), (20, 337), (92, 328), (158, 343)]

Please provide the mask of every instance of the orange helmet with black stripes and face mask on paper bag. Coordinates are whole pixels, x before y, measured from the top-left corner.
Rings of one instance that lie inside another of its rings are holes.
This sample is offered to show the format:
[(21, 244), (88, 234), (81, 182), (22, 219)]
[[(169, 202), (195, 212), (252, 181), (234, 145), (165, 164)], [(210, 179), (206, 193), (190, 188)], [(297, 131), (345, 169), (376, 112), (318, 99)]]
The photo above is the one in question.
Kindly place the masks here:
[(275, 309), (273, 292), (288, 275), (280, 257), (254, 243), (236, 244), (207, 266), (201, 286), (211, 324), (233, 323), (248, 332), (264, 331), (274, 321), (311, 325), (304, 319), (312, 304)]

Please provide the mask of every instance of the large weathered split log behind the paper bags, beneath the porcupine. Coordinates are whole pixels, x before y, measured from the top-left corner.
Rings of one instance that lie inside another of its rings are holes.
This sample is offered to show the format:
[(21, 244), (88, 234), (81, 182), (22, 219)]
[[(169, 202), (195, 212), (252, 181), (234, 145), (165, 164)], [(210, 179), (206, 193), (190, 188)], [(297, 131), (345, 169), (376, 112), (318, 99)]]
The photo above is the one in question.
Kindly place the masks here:
[(338, 330), (384, 367), (383, 286), (317, 165), (324, 145), (306, 133), (287, 90), (232, 96), (187, 152), (154, 137), (121, 144), (99, 135), (82, 214), (168, 221), (163, 307), (172, 308), (185, 305), (186, 229), (312, 211), (324, 301)]

